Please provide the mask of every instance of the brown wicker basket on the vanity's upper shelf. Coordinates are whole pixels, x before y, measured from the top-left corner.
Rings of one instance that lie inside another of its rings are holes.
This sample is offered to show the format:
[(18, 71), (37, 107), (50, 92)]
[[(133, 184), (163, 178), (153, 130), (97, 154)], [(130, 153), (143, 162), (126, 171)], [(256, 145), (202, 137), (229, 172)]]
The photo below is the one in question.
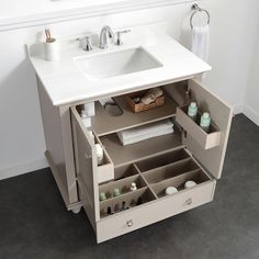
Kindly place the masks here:
[(165, 103), (164, 95), (157, 98), (155, 102), (151, 102), (149, 104), (144, 104), (142, 102), (135, 103), (133, 101), (135, 98), (138, 98), (138, 97), (142, 98), (145, 94), (145, 92), (146, 91), (140, 91), (140, 92), (135, 92), (135, 93), (126, 95), (126, 102), (127, 102), (130, 109), (134, 113), (144, 112), (144, 111), (147, 111), (147, 110), (150, 110), (150, 109), (164, 105), (164, 103)]

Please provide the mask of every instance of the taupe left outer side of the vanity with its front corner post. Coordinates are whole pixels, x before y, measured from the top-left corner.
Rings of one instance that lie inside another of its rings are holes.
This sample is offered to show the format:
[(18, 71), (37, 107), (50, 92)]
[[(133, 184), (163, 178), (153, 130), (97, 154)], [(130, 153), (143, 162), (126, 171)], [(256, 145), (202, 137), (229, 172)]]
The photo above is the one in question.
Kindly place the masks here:
[(45, 156), (60, 191), (67, 210), (79, 212), (74, 145), (68, 105), (54, 106), (45, 88), (37, 77), (43, 128), (45, 135)]

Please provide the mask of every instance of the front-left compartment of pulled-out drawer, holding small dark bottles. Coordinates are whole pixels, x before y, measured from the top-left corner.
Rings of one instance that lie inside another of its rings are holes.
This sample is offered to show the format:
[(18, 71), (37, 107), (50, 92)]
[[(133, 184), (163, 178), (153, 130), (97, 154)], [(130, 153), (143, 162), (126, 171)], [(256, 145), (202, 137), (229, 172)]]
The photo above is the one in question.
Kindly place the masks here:
[(148, 188), (142, 188), (134, 192), (122, 194), (103, 202), (100, 202), (100, 215), (102, 217), (127, 211), (132, 207), (143, 205), (156, 200), (156, 196)]

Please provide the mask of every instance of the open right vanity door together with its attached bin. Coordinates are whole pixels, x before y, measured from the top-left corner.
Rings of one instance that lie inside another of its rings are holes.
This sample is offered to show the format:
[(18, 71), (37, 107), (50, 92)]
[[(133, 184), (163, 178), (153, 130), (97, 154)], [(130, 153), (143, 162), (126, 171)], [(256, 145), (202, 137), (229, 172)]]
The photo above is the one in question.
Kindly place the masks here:
[(191, 99), (196, 101), (199, 111), (210, 112), (215, 132), (206, 134), (196, 123), (179, 109), (177, 121), (187, 132), (184, 145), (193, 157), (216, 179), (221, 178), (227, 140), (233, 117), (233, 109), (198, 81), (189, 81)]

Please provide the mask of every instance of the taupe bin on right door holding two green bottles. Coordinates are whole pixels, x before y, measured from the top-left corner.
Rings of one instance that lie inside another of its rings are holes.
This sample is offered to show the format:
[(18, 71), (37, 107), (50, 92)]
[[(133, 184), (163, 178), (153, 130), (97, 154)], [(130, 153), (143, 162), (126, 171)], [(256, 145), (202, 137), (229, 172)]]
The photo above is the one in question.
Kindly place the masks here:
[(188, 116), (188, 106), (177, 108), (176, 121), (192, 136), (204, 149), (213, 148), (219, 145), (221, 131), (211, 123), (210, 132), (203, 131), (199, 123), (201, 114), (198, 113), (196, 122)]

